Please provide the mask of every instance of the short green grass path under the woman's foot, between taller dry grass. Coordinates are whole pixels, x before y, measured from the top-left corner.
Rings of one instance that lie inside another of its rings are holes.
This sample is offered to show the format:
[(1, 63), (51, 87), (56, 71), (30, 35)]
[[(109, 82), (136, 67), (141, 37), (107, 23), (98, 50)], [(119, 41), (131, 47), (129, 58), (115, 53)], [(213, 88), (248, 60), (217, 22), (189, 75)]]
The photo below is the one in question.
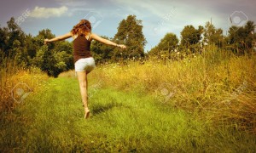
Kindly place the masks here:
[(90, 81), (84, 111), (76, 79), (50, 79), (12, 113), (1, 112), (0, 151), (255, 152), (256, 138), (214, 127), (140, 91), (101, 88)]

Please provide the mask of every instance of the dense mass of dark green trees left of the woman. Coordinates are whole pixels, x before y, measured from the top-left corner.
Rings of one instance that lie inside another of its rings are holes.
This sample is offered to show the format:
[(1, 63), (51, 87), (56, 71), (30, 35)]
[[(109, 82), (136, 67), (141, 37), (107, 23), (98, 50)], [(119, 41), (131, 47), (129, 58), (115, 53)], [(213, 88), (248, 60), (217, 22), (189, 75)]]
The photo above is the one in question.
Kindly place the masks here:
[(0, 28), (3, 59), (15, 60), (20, 67), (38, 66), (51, 77), (57, 77), (62, 71), (73, 69), (71, 42), (56, 42), (44, 45), (44, 38), (55, 37), (49, 29), (38, 32), (38, 36), (26, 35), (15, 19), (8, 21), (8, 27)]

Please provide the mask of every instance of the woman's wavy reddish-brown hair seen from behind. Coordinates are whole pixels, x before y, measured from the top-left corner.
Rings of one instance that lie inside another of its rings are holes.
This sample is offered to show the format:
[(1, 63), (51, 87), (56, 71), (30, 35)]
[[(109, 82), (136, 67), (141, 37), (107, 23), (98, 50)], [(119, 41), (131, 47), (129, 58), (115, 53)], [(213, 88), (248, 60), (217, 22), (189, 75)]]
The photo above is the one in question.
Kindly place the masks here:
[(84, 36), (90, 33), (90, 31), (91, 31), (90, 21), (80, 20), (80, 22), (76, 26), (73, 26), (71, 33), (73, 35)]

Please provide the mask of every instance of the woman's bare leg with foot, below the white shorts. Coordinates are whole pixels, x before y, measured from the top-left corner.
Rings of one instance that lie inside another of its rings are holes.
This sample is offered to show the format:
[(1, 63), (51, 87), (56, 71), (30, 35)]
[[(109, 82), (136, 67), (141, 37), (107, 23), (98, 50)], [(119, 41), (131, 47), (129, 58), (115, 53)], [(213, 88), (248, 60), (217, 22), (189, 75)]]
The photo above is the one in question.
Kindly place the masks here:
[(88, 82), (87, 82), (87, 73), (85, 71), (77, 71), (77, 75), (79, 78), (79, 88), (80, 94), (84, 104), (84, 118), (89, 117), (89, 109), (88, 109)]

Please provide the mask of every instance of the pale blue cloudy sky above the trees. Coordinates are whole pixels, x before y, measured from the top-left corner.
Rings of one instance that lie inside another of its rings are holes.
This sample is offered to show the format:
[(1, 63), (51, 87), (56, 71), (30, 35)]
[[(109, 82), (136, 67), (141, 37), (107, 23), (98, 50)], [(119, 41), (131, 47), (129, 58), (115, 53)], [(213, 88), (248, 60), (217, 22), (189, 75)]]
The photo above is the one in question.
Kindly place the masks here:
[[(15, 17), (26, 34), (49, 29), (56, 36), (70, 31), (79, 20), (90, 20), (93, 32), (113, 37), (129, 14), (143, 21), (143, 34), (150, 50), (167, 32), (180, 39), (184, 26), (205, 26), (212, 20), (226, 35), (230, 26), (256, 23), (256, 0), (4, 0), (0, 25)], [(72, 40), (69, 40), (72, 41)]]

